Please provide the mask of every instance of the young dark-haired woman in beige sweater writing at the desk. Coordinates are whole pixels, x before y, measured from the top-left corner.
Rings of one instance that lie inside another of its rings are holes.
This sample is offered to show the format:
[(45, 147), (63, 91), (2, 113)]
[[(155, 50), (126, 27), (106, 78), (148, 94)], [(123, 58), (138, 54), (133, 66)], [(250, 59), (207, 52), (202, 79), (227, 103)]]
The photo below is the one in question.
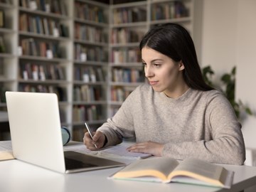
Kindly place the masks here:
[(175, 23), (156, 26), (139, 47), (149, 83), (127, 97), (93, 140), (85, 133), (87, 148), (135, 137), (137, 143), (128, 151), (243, 164), (241, 125), (225, 96), (203, 81), (188, 31)]

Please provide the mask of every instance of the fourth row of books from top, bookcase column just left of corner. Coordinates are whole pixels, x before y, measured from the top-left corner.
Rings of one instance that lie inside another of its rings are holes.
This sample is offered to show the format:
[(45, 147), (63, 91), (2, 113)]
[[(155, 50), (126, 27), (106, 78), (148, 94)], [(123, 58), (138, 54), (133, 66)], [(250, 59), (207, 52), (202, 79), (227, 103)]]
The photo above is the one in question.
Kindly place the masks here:
[(105, 82), (105, 73), (101, 67), (75, 65), (74, 77), (83, 82)]

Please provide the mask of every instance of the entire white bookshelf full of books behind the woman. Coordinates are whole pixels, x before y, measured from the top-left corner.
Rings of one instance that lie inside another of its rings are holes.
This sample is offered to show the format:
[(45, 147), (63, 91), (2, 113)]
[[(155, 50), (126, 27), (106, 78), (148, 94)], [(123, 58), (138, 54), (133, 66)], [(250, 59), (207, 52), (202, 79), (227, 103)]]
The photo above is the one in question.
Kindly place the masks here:
[(193, 36), (194, 7), (194, 0), (1, 0), (0, 111), (6, 90), (55, 92), (61, 125), (82, 141), (85, 121), (97, 129), (144, 83), (144, 33), (175, 22)]

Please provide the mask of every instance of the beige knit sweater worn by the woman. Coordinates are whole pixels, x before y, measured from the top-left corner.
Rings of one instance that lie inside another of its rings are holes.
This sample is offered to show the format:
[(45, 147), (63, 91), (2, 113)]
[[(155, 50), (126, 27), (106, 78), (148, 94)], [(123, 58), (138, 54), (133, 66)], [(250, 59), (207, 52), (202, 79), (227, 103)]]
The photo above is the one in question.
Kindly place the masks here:
[(122, 138), (164, 144), (164, 156), (198, 158), (221, 164), (243, 164), (241, 126), (225, 96), (217, 90), (188, 89), (171, 99), (150, 85), (134, 90), (122, 107), (98, 129), (107, 145)]

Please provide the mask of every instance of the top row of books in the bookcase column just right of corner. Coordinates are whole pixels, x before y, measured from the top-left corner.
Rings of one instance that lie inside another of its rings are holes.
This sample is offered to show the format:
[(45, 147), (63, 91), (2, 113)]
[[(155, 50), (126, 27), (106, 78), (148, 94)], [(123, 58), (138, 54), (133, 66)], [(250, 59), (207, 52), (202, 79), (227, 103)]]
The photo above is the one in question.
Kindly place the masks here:
[(146, 8), (131, 7), (113, 10), (113, 23), (134, 23), (146, 21)]

